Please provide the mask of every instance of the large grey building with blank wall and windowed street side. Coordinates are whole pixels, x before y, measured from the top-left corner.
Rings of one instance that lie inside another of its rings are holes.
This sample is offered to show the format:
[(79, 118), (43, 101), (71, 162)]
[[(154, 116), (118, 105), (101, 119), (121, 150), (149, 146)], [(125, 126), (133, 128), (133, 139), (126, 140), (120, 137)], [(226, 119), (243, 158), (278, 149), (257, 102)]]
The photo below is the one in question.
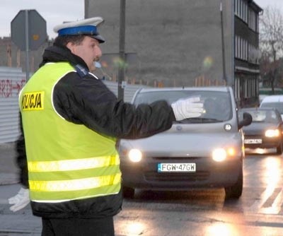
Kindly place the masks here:
[[(258, 103), (260, 6), (252, 0), (125, 1), (127, 83), (231, 85), (241, 107)], [(103, 16), (103, 73), (115, 80), (120, 1), (85, 0), (85, 18)], [(111, 57), (109, 57), (111, 55)], [(116, 61), (116, 62), (115, 62)]]

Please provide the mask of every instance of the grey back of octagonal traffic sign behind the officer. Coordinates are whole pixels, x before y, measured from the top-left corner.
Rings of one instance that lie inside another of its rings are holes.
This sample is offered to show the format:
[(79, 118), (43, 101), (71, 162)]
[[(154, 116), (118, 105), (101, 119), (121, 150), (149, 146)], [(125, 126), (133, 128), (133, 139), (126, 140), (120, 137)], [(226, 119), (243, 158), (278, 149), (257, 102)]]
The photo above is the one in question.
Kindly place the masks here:
[(47, 41), (46, 21), (36, 10), (21, 10), (11, 21), (11, 39), (21, 50), (36, 50)]

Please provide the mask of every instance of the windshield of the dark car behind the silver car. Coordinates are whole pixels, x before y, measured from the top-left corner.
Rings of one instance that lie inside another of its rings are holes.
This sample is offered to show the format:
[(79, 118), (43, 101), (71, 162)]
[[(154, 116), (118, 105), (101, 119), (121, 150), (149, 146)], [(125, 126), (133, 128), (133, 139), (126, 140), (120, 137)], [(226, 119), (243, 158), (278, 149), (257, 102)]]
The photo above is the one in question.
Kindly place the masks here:
[[(239, 111), (239, 117), (243, 118), (243, 112)], [(253, 117), (253, 122), (265, 122), (265, 123), (278, 123), (278, 117), (273, 110), (248, 110), (246, 111)]]

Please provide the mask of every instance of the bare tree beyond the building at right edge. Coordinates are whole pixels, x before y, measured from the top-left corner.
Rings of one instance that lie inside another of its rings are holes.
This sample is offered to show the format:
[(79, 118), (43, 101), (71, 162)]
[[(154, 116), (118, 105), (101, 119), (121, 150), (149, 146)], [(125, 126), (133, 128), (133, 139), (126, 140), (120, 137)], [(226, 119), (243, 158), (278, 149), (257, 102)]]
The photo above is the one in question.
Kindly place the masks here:
[(260, 16), (260, 50), (262, 80), (274, 93), (275, 85), (282, 78), (279, 59), (283, 57), (283, 16), (279, 8), (269, 6)]

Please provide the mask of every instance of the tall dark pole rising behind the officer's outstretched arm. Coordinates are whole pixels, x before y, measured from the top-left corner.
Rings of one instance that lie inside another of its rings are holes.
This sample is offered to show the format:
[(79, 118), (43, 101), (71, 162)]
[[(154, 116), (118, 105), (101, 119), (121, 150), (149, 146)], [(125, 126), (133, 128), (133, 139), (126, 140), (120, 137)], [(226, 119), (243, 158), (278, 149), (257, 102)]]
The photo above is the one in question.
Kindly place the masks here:
[(120, 40), (119, 40), (119, 71), (118, 71), (118, 99), (124, 100), (124, 88), (122, 82), (125, 81), (125, 23), (126, 23), (126, 0), (120, 0)]

